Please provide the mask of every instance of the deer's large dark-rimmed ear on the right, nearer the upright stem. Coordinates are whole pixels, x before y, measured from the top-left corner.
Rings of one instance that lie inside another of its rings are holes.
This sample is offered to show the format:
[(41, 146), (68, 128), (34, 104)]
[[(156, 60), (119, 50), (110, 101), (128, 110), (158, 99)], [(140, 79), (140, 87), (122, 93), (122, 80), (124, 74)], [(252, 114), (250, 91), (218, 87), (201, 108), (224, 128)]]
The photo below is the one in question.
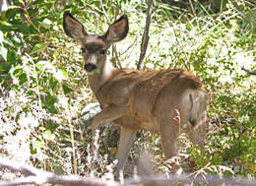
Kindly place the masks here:
[(115, 23), (109, 26), (105, 37), (109, 42), (116, 42), (126, 37), (129, 31), (129, 23), (126, 15), (123, 15)]

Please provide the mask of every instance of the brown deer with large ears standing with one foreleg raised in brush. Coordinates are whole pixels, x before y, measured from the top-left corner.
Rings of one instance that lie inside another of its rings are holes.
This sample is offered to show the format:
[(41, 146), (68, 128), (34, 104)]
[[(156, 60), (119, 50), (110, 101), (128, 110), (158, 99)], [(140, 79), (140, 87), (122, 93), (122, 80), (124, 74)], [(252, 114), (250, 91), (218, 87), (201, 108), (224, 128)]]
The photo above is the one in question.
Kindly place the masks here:
[(123, 170), (137, 131), (160, 134), (165, 158), (176, 155), (181, 133), (186, 133), (192, 144), (204, 145), (207, 92), (197, 76), (183, 69), (122, 69), (107, 59), (109, 47), (128, 34), (125, 14), (99, 35), (88, 33), (70, 12), (64, 12), (63, 29), (82, 46), (88, 81), (101, 107), (92, 122), (93, 136), (106, 122), (120, 128), (117, 171)]

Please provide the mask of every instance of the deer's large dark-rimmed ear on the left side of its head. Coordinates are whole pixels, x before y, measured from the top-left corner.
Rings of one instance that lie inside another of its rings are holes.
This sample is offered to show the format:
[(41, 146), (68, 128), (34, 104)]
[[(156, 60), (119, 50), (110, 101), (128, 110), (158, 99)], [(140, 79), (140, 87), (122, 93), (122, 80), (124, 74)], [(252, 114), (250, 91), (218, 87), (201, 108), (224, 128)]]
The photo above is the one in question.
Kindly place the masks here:
[(69, 12), (64, 12), (63, 29), (68, 36), (78, 41), (81, 41), (87, 35), (84, 26)]

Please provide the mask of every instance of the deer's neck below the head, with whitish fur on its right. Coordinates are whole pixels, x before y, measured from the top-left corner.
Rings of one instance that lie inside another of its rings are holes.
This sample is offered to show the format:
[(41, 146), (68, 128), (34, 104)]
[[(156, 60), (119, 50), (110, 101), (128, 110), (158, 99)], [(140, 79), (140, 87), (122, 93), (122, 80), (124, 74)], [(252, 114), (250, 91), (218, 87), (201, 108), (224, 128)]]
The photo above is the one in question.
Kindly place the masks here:
[(89, 84), (93, 92), (96, 94), (99, 88), (112, 76), (116, 68), (110, 61), (106, 59), (105, 63), (99, 69), (99, 73), (88, 74)]

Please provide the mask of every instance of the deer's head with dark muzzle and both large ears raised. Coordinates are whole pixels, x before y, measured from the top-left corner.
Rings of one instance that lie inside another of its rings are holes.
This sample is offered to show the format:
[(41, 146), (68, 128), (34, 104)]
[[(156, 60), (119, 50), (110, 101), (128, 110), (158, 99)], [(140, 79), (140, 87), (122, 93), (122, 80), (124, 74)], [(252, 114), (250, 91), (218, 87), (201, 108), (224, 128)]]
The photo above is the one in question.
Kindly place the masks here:
[(69, 12), (64, 13), (63, 29), (68, 36), (79, 41), (85, 60), (85, 69), (89, 74), (101, 69), (106, 60), (107, 49), (113, 42), (124, 39), (129, 30), (128, 18), (123, 15), (102, 34), (89, 34), (85, 27)]

